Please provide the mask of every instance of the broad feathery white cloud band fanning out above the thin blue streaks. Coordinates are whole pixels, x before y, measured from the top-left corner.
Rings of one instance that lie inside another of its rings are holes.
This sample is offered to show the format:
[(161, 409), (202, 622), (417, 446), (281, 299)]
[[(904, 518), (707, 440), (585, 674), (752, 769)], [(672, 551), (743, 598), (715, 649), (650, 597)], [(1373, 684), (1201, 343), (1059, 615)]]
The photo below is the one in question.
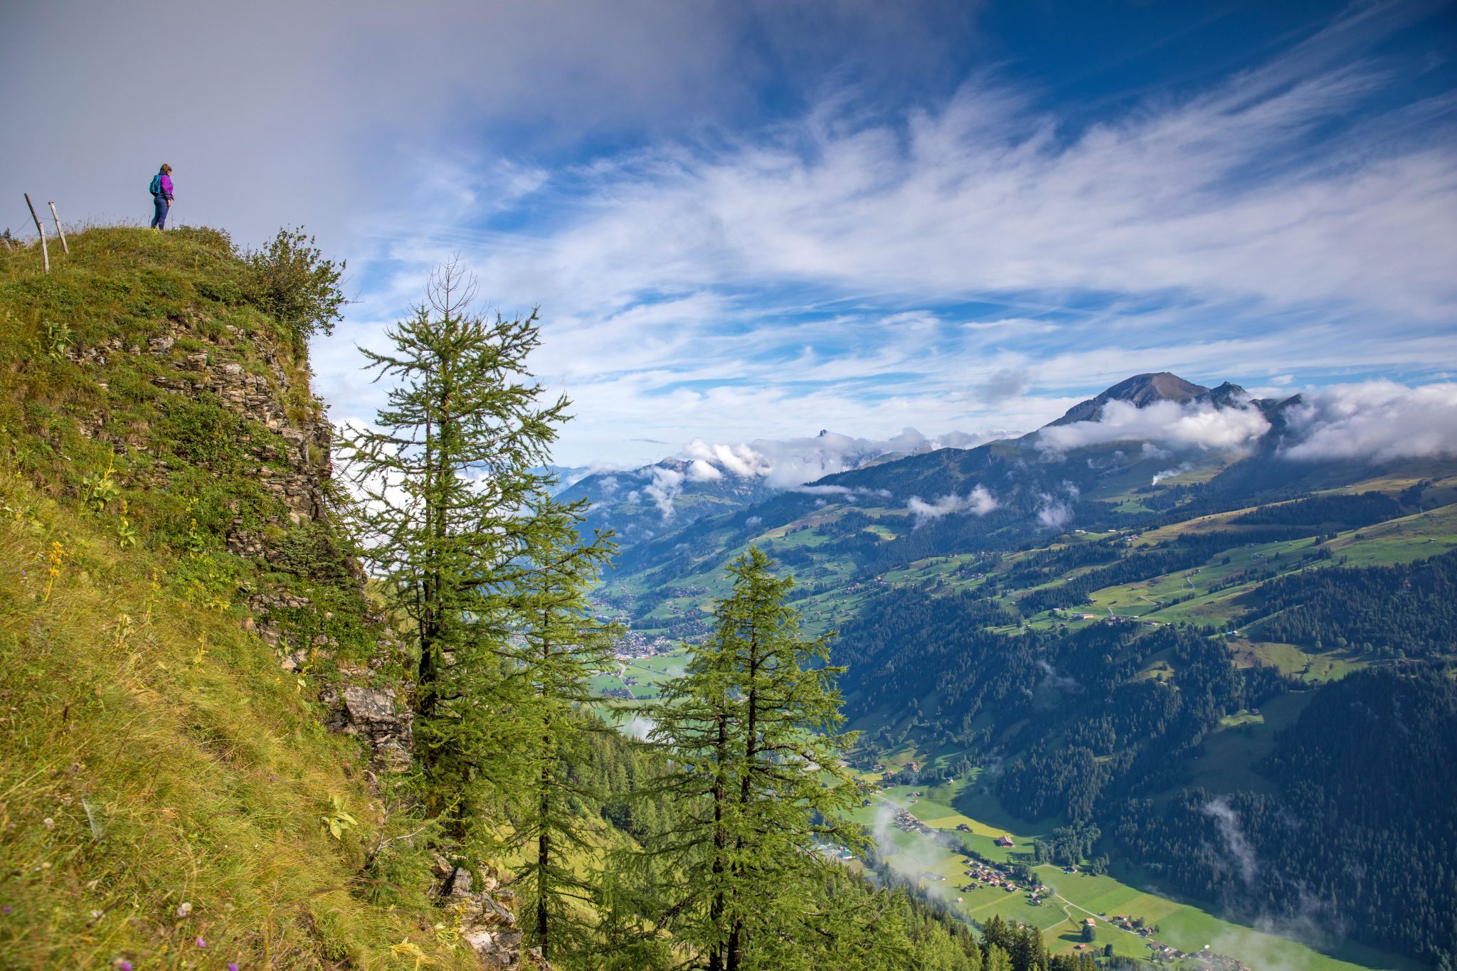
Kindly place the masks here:
[(599, 204), (551, 240), (548, 265), (610, 296), (750, 280), (941, 298), (1183, 290), (1429, 317), (1457, 297), (1457, 163), (1402, 140), (1374, 151), (1361, 125), (1308, 143), (1380, 83), (1311, 47), (1071, 137), (1069, 119), (985, 79), (892, 121), (828, 102), (586, 173)]

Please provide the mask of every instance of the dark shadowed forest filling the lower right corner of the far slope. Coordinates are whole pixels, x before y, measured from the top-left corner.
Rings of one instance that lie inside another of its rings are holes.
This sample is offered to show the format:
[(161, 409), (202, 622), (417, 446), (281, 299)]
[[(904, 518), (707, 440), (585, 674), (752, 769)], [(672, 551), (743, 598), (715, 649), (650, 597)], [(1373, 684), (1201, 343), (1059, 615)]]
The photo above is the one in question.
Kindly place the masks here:
[(1431, 964), (1457, 951), (1457, 683), (1431, 664), (1355, 673), (1260, 766), (1278, 793), (1177, 793), (1119, 812), (1116, 846), (1244, 919), (1314, 923)]

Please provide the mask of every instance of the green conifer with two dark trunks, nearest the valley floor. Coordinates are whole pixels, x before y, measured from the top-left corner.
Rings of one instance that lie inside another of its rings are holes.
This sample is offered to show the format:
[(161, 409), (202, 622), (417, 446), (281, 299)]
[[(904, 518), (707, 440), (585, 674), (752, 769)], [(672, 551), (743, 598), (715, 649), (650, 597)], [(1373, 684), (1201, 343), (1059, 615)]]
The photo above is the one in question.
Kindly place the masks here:
[(650, 740), (678, 767), (660, 792), (686, 808), (661, 843), (682, 879), (667, 923), (710, 971), (812, 967), (820, 849), (867, 844), (841, 815), (863, 795), (839, 764), (854, 741), (841, 731), (844, 668), (828, 664), (828, 635), (800, 636), (794, 581), (771, 566), (758, 547), (728, 566), (712, 636), (653, 708)]

